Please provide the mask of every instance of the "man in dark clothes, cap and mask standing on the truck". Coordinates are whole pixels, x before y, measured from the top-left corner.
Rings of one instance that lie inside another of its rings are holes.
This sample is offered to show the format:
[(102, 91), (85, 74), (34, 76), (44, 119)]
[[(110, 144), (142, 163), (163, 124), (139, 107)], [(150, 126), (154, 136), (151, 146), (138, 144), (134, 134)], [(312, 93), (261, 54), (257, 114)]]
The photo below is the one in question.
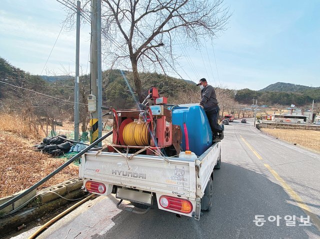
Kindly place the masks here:
[(224, 137), (224, 127), (223, 125), (221, 127), (217, 122), (219, 106), (218, 101), (216, 100), (214, 88), (211, 85), (208, 85), (205, 78), (200, 79), (196, 85), (201, 89), (200, 106), (204, 109), (209, 120), (209, 124), (213, 132), (213, 142), (219, 142)]

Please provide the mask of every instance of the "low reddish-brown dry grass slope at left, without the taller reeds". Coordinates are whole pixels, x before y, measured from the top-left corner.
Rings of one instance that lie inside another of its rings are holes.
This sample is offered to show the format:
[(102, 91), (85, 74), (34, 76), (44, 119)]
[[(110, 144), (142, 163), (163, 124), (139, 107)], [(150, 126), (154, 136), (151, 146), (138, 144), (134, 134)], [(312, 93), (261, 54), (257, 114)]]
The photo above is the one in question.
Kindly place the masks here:
[[(29, 188), (64, 163), (35, 152), (29, 141), (0, 132), (0, 198)], [(78, 167), (69, 165), (40, 189), (78, 176)]]

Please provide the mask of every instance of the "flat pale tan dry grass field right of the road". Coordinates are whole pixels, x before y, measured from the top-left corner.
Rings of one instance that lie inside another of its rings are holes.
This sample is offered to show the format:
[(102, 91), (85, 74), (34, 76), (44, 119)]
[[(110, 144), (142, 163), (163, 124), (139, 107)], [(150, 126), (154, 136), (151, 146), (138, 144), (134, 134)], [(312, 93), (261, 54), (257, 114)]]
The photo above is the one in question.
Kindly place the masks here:
[(261, 131), (286, 142), (320, 152), (320, 131), (268, 128), (262, 128)]

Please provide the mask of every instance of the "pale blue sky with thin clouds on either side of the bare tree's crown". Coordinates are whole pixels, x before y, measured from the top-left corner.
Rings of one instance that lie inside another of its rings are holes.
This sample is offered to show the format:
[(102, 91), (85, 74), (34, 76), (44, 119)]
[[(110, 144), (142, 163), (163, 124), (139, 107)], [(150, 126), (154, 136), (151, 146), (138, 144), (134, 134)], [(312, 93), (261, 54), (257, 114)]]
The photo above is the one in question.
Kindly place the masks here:
[[(199, 51), (188, 49), (196, 72), (185, 57), (180, 58), (184, 71), (178, 72), (182, 77), (193, 81), (205, 77), (212, 85), (233, 89), (261, 89), (277, 81), (320, 86), (319, 0), (224, 2), (233, 15), (228, 29), (213, 42), (216, 65), (211, 43), (207, 42), (207, 48), (201, 49), (204, 63)], [(0, 56), (16, 67), (40, 74), (64, 14), (55, 0), (2, 0)], [(88, 27), (81, 30), (80, 44), (80, 64), (85, 73)], [(56, 74), (63, 74), (64, 69), (74, 71), (74, 45), (75, 32), (62, 31), (47, 68)]]

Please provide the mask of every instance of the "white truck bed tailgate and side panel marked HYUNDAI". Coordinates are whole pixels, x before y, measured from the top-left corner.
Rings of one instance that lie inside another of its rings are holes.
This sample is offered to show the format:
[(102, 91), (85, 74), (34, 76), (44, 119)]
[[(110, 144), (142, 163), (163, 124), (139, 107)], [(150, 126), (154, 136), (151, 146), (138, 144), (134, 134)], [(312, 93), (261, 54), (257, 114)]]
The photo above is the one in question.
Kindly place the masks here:
[(155, 193), (157, 198), (159, 195), (182, 197), (192, 200), (195, 207), (219, 158), (219, 143), (214, 143), (197, 159), (165, 157), (164, 160), (158, 156), (136, 155), (127, 160), (118, 153), (89, 151), (82, 156), (79, 176), (84, 184), (92, 180), (111, 187)]

